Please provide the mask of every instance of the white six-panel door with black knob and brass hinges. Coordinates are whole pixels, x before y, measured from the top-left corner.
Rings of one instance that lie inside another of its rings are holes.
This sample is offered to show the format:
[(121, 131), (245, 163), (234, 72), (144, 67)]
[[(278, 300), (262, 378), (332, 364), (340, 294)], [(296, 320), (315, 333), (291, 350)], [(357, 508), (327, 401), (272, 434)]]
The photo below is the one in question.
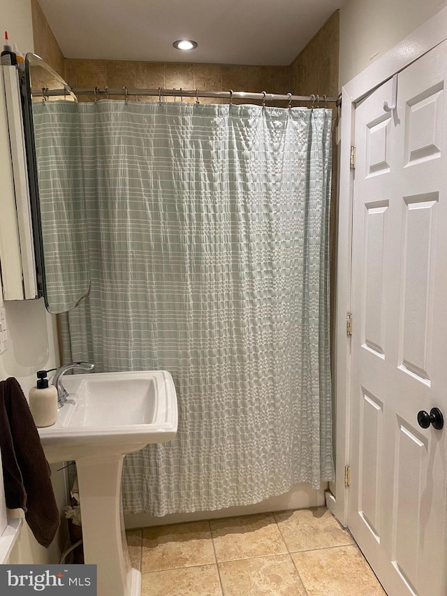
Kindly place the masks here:
[(356, 108), (349, 528), (390, 596), (446, 596), (446, 42)]

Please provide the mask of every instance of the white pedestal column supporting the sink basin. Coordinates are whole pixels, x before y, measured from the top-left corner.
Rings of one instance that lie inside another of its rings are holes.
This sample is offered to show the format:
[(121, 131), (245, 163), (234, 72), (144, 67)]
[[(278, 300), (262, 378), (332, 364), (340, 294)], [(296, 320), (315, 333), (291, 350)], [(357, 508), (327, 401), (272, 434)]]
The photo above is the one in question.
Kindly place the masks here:
[(141, 574), (131, 569), (124, 531), (123, 460), (121, 453), (76, 460), (84, 559), (98, 566), (98, 596), (141, 594)]

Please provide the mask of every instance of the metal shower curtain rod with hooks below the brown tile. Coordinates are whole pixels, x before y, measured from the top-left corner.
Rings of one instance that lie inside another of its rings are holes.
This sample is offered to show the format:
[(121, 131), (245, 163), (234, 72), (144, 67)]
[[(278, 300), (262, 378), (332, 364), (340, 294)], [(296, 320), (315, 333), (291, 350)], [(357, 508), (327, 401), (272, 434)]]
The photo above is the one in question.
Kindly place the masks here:
[[(124, 95), (125, 97), (131, 95), (158, 96), (160, 101), (166, 97), (179, 97), (180, 99), (183, 97), (195, 97), (197, 101), (199, 97), (214, 97), (229, 99), (230, 102), (232, 99), (258, 99), (263, 101), (263, 103), (266, 101), (288, 101), (289, 103), (292, 101), (312, 101), (312, 103), (317, 104), (337, 103), (337, 106), (339, 106), (339, 97), (328, 97), (325, 95), (303, 96), (293, 95), (291, 93), (281, 95), (277, 93), (267, 93), (265, 91), (261, 93), (248, 93), (244, 91), (233, 91), (233, 89), (230, 89), (229, 91), (200, 91), (200, 89), (163, 89), (163, 87), (159, 87), (158, 89), (129, 89), (128, 87), (110, 89), (109, 87), (94, 87), (93, 89), (72, 88), (71, 91), (75, 95), (95, 95), (98, 99), (101, 96), (109, 95)], [(45, 98), (57, 95), (68, 95), (68, 91), (66, 91), (66, 89), (48, 89), (47, 87), (42, 87), (41, 89), (31, 89), (31, 94)]]

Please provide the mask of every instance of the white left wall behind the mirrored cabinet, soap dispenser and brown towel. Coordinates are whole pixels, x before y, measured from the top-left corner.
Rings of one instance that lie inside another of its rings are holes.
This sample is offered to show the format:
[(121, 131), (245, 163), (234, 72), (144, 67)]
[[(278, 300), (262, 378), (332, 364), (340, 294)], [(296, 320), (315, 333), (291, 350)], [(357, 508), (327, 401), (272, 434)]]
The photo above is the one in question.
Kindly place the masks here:
[[(0, 15), (1, 35), (6, 29), (11, 41), (17, 43), (21, 52), (32, 52), (31, 1), (0, 0)], [(2, 304), (0, 293), (0, 306)], [(28, 395), (29, 389), (35, 384), (36, 371), (54, 368), (59, 364), (54, 317), (45, 311), (43, 299), (6, 302), (4, 306), (10, 340), (6, 351), (0, 354), (0, 379), (15, 377), (25, 395)], [(56, 468), (52, 466), (52, 481), (56, 499), (62, 507), (66, 494), (64, 473), (57, 472)], [(15, 515), (19, 514), (19, 511), (15, 512)], [(10, 556), (11, 563), (58, 562), (64, 536), (58, 537), (46, 550), (36, 542), (26, 523), (22, 528), (20, 539)]]

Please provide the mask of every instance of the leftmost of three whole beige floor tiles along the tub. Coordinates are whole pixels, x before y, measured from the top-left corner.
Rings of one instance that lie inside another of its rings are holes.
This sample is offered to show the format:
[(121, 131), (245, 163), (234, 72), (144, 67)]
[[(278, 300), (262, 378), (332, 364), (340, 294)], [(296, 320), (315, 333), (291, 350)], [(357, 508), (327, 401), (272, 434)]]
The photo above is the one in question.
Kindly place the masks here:
[(142, 530), (142, 573), (215, 563), (207, 521), (175, 523)]

